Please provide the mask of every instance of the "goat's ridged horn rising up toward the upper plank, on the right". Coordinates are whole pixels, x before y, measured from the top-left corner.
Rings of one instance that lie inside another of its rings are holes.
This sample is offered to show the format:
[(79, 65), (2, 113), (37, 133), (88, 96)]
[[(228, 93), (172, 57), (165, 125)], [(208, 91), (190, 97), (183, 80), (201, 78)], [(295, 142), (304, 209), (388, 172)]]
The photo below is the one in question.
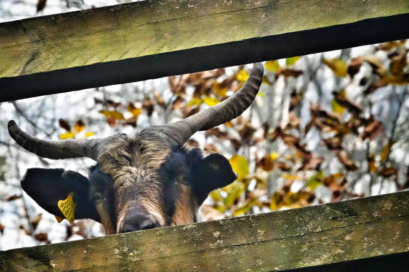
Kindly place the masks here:
[(169, 125), (155, 126), (176, 145), (183, 145), (199, 130), (208, 130), (229, 122), (243, 113), (253, 102), (263, 78), (263, 64), (254, 63), (249, 79), (227, 100)]

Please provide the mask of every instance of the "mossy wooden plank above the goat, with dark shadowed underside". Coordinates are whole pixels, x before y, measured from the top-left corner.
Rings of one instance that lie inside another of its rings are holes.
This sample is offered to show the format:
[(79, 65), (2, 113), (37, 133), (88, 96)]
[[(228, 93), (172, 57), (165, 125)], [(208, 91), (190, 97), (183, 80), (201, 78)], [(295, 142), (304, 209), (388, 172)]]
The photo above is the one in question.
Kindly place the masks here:
[(0, 24), (0, 102), (409, 38), (407, 0), (149, 0)]

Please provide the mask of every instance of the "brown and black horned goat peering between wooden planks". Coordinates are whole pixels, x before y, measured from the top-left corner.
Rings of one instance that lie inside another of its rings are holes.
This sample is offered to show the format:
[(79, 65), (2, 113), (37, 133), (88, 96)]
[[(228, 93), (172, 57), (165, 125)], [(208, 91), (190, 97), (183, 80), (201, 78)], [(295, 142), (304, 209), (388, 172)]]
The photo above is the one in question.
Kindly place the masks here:
[(231, 184), (237, 175), (224, 156), (183, 145), (197, 131), (241, 115), (252, 104), (262, 77), (263, 65), (255, 63), (247, 82), (227, 100), (178, 122), (149, 126), (134, 137), (119, 133), (51, 141), (28, 135), (11, 120), (10, 136), (31, 153), (97, 161), (89, 178), (70, 170), (30, 168), (21, 186), (57, 217), (64, 216), (58, 201), (73, 194), (75, 217), (100, 222), (106, 234), (197, 222), (209, 193)]

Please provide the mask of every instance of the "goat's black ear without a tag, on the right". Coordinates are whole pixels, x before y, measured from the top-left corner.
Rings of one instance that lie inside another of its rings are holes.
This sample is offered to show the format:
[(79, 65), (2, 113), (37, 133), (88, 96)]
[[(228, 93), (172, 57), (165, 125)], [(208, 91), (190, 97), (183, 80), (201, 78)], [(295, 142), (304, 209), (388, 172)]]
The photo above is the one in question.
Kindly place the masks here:
[(194, 148), (189, 154), (189, 162), (193, 174), (193, 192), (199, 198), (200, 204), (211, 191), (225, 187), (237, 178), (229, 161), (219, 153)]

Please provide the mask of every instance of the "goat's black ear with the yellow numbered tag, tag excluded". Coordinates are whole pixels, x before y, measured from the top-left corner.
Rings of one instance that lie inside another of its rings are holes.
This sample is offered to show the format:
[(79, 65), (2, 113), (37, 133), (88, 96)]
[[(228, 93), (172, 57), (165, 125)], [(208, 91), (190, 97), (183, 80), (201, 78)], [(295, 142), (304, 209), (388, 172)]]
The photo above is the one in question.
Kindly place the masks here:
[(90, 218), (100, 222), (97, 207), (90, 201), (90, 184), (86, 177), (64, 169), (30, 168), (21, 181), (21, 187), (41, 208), (64, 218), (58, 201), (74, 192), (75, 219)]

